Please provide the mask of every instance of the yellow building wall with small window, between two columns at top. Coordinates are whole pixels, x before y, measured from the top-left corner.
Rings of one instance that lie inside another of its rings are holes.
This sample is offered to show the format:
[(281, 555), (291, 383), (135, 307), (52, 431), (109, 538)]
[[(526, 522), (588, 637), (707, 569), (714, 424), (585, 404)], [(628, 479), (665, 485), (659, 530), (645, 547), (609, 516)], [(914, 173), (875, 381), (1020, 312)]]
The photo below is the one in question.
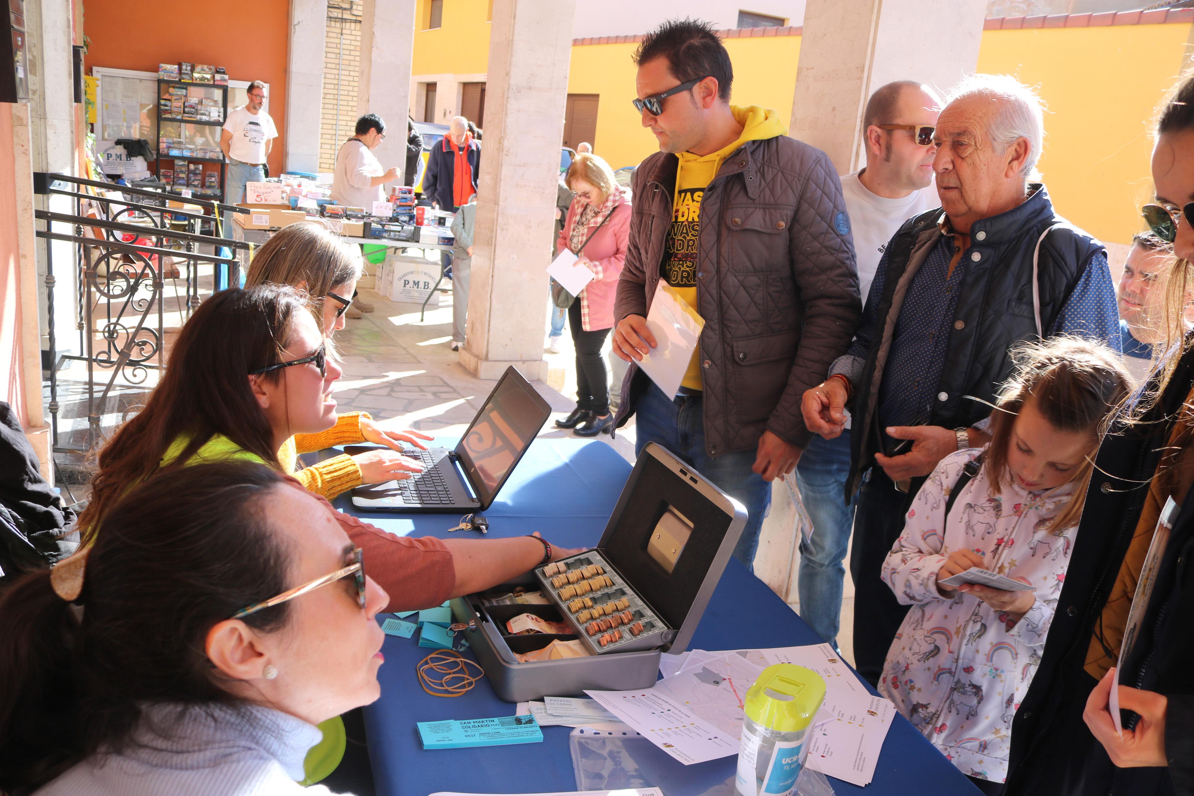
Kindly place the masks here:
[[(384, 0), (380, 0), (384, 1)], [(449, 0), (442, 25), (427, 30), (429, 0), (414, 10), (414, 53), (411, 74), (479, 74), (490, 68), (490, 0)]]

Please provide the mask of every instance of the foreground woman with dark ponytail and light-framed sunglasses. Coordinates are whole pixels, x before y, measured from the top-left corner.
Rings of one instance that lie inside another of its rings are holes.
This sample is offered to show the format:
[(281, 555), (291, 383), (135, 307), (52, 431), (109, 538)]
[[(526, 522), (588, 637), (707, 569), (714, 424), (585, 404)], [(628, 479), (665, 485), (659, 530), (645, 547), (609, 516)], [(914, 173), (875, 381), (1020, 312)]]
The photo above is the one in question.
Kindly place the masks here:
[(139, 485), (0, 597), (0, 792), (303, 792), (315, 726), (380, 693), (367, 561), (260, 464)]

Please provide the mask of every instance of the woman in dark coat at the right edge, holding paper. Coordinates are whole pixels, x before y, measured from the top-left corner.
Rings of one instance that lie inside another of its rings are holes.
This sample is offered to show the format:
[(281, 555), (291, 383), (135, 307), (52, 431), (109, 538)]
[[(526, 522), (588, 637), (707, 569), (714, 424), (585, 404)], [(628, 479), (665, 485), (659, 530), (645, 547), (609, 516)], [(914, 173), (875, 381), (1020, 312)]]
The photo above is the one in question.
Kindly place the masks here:
[(1161, 109), (1152, 180), (1157, 204), (1144, 215), (1175, 254), (1165, 354), (1095, 458), (1058, 584), (1060, 621), (1016, 712), (1009, 794), (1194, 794), (1194, 333), (1183, 322), (1194, 276), (1194, 74)]

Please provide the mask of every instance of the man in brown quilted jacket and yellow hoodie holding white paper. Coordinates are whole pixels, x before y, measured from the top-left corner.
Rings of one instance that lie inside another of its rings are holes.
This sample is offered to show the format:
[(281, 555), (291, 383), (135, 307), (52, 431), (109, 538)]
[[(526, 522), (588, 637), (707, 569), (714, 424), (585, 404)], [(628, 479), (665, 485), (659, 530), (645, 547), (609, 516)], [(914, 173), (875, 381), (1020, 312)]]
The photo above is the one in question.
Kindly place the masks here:
[[(734, 556), (751, 566), (770, 482), (812, 437), (801, 395), (858, 321), (842, 186), (829, 156), (789, 138), (775, 111), (730, 104), (730, 55), (707, 23), (664, 23), (634, 62), (634, 105), (660, 152), (632, 181), (614, 308), (614, 352), (632, 366), (615, 427), (636, 414), (639, 450), (664, 445), (743, 502)], [(660, 282), (704, 320), (676, 395), (634, 365), (656, 346), (646, 315)]]

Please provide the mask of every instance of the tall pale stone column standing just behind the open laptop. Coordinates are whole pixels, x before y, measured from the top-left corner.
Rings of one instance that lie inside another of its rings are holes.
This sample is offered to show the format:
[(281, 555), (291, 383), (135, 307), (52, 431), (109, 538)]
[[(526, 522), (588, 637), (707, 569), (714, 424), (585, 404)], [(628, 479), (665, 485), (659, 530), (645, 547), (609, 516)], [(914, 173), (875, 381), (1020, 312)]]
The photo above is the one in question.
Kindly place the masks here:
[(572, 0), (494, 0), (472, 296), (461, 363), (547, 376), (543, 331), (555, 183), (572, 55)]

